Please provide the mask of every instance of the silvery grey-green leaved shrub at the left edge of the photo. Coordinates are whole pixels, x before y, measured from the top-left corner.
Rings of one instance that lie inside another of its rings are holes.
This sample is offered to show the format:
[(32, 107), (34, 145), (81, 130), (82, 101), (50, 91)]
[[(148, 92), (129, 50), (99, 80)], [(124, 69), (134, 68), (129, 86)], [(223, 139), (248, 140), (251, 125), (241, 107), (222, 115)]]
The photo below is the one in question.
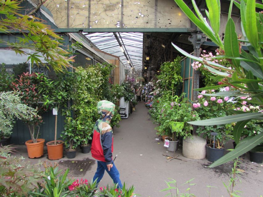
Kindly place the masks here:
[(37, 116), (35, 109), (23, 104), (18, 93), (0, 93), (0, 145), (10, 144), (14, 118), (33, 120)]

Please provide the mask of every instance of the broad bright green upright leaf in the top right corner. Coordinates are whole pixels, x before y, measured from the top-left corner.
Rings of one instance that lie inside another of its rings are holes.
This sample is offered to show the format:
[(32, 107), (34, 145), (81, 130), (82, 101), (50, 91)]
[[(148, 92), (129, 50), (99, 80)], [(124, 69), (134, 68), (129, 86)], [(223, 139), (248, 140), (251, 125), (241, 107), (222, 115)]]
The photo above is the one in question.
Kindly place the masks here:
[(251, 43), (251, 45), (257, 50), (258, 45), (258, 34), (257, 34), (257, 25), (256, 25), (256, 1), (247, 0), (246, 5), (246, 36)]

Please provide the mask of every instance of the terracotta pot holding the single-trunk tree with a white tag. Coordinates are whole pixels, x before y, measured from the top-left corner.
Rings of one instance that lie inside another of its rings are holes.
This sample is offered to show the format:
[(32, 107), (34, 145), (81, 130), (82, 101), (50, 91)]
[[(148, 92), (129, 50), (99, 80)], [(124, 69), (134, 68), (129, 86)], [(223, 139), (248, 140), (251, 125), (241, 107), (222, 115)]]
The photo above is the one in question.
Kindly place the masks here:
[[(64, 142), (61, 140), (57, 140), (56, 145), (51, 145), (51, 143), (54, 143), (55, 141), (50, 141), (47, 143), (47, 154), (48, 159), (50, 160), (56, 160), (61, 159), (63, 157), (63, 144)], [(58, 144), (60, 142), (60, 144)]]

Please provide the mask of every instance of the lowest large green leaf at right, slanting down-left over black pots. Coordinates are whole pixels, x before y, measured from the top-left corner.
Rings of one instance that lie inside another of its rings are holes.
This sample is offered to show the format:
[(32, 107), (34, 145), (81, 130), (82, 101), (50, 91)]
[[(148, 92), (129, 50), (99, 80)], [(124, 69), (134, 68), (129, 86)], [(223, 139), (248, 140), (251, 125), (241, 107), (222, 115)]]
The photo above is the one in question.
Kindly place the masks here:
[(242, 141), (243, 140), (240, 141), (240, 143), (236, 146), (236, 148), (233, 151), (230, 151), (228, 154), (216, 160), (208, 167), (219, 166), (223, 163), (226, 163), (228, 161), (231, 161), (232, 159), (237, 158), (238, 156), (246, 153), (247, 151), (250, 151), (252, 148), (256, 147), (258, 144), (263, 142), (263, 132), (260, 133), (259, 135), (255, 135), (254, 137), (250, 138), (245, 143), (241, 143)]

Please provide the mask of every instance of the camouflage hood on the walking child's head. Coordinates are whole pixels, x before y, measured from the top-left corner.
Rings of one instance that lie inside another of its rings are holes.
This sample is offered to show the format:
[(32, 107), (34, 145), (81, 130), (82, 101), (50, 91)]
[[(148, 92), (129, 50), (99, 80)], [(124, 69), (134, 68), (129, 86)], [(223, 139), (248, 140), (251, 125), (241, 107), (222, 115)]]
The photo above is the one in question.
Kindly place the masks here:
[(97, 105), (98, 114), (101, 115), (100, 120), (110, 123), (114, 115), (115, 105), (112, 102), (103, 100)]

